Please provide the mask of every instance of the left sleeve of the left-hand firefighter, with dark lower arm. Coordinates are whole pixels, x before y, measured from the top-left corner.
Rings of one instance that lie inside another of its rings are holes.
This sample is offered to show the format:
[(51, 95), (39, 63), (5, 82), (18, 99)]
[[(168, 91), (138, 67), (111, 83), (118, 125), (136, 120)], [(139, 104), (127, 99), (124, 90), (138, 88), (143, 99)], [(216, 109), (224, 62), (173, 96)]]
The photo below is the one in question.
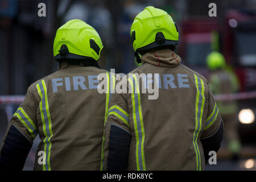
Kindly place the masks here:
[(36, 129), (36, 101), (30, 88), (14, 113), (0, 150), (0, 169), (22, 170), (30, 152)]

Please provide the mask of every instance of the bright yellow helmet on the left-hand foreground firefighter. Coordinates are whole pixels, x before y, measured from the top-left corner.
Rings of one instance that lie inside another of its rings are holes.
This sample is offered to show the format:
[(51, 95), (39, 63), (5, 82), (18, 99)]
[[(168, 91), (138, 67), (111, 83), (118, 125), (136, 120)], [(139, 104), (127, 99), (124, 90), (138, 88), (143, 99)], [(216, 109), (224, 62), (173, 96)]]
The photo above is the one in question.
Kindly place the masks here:
[(100, 35), (89, 24), (79, 19), (61, 26), (53, 43), (53, 55), (60, 59), (100, 59), (103, 48)]

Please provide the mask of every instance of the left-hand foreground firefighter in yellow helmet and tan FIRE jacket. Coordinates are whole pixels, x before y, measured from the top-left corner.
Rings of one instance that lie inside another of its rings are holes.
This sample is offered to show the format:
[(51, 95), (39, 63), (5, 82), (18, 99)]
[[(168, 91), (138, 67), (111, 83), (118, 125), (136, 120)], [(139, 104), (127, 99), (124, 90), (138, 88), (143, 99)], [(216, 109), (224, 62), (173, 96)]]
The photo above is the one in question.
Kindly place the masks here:
[(110, 96), (97, 91), (97, 75), (110, 78), (98, 67), (102, 48), (97, 31), (82, 20), (57, 30), (53, 55), (59, 70), (28, 88), (2, 142), (0, 169), (23, 169), (39, 135), (34, 170), (100, 170)]

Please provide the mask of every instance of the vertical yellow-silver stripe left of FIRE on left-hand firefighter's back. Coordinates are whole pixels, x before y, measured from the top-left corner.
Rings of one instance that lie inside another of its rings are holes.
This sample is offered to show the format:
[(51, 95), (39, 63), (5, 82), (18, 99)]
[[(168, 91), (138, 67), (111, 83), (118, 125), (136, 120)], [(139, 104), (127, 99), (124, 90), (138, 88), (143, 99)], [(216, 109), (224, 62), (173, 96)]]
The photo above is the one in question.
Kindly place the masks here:
[(43, 170), (51, 171), (51, 164), (50, 164), (50, 156), (51, 156), (51, 138), (52, 138), (52, 122), (51, 122), (51, 115), (49, 113), (49, 104), (48, 104), (48, 97), (47, 97), (47, 87), (44, 80), (36, 84), (36, 88), (38, 89), (39, 96), (41, 97), (41, 101), (39, 103), (40, 107), (40, 114), (43, 123), (43, 133), (45, 138), (43, 140), (44, 143), (44, 160), (47, 161), (46, 164), (43, 164)]

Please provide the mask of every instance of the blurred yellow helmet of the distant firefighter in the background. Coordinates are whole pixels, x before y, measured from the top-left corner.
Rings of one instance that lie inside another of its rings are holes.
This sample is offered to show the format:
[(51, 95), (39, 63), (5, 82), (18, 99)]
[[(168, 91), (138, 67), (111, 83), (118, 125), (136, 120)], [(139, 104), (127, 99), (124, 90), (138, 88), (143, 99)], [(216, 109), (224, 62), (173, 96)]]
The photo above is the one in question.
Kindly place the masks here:
[(215, 71), (217, 69), (223, 69), (226, 65), (225, 57), (217, 51), (211, 52), (207, 56), (207, 67), (211, 71)]

